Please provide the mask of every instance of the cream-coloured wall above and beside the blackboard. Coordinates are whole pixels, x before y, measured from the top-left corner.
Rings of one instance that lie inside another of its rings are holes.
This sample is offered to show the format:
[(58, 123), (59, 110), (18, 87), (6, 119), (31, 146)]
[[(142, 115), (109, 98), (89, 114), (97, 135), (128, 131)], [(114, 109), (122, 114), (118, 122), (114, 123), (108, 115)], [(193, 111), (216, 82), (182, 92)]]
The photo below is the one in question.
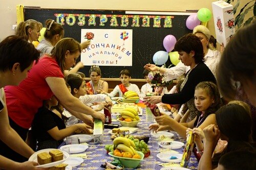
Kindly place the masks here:
[[(247, 0), (246, 0), (247, 1)], [(198, 10), (200, 8), (208, 8), (211, 10), (212, 0), (130, 0), (122, 1), (119, 0), (94, 0), (94, 1), (79, 1), (73, 0), (72, 4), (68, 1), (60, 0), (0, 0), (0, 39), (14, 34), (12, 31), (12, 25), (16, 23), (16, 5), (22, 4), (24, 6), (39, 6), (41, 8), (63, 8), (63, 9), (105, 9), (105, 10), (133, 10), (133, 11), (185, 11), (185, 10)], [(208, 23), (208, 28), (215, 35), (213, 19)]]

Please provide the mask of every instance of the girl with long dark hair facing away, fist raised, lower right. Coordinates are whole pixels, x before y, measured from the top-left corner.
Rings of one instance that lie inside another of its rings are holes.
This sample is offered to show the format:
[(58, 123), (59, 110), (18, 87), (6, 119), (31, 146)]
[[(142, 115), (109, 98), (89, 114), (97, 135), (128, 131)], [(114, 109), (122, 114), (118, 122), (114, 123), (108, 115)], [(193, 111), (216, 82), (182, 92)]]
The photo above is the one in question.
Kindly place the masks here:
[[(243, 103), (243, 105), (246, 104)], [(215, 114), (216, 125), (212, 124), (204, 128), (204, 154), (199, 162), (198, 169), (212, 169), (212, 153), (219, 139), (228, 141), (223, 154), (241, 149), (255, 151), (248, 144), (252, 141), (250, 110), (248, 106), (244, 107), (243, 105), (229, 103), (221, 107)]]

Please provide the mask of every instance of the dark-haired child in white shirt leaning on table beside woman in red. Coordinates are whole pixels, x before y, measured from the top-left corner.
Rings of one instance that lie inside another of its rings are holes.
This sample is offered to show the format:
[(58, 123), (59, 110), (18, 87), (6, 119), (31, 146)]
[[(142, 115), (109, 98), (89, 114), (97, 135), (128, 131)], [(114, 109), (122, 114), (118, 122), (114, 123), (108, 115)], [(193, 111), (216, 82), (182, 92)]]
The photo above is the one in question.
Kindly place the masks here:
[[(71, 74), (67, 77), (67, 84), (71, 88), (71, 93), (75, 96), (75, 98), (78, 98), (83, 104), (90, 104), (94, 102), (102, 102), (97, 108), (95, 108), (95, 111), (101, 111), (102, 109), (106, 109), (105, 106), (112, 106), (112, 101), (109, 98), (109, 96), (105, 94), (93, 94), (93, 95), (87, 95), (86, 92), (86, 82), (80, 77), (78, 74)], [(78, 123), (78, 119), (75, 116), (71, 116), (67, 122), (67, 125), (73, 125)]]

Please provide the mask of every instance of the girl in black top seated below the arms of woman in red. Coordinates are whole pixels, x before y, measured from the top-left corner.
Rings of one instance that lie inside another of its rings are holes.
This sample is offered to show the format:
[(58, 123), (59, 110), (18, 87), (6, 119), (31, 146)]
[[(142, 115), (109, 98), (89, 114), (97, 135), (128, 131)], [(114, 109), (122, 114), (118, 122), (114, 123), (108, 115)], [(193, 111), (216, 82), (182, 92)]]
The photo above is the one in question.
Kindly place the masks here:
[(90, 128), (86, 124), (75, 124), (66, 128), (62, 114), (52, 112), (52, 106), (56, 106), (58, 101), (53, 95), (52, 98), (44, 102), (44, 106), (38, 109), (32, 123), (32, 133), (36, 138), (37, 151), (47, 148), (58, 148), (63, 142), (63, 138), (70, 136), (77, 130), (90, 133)]

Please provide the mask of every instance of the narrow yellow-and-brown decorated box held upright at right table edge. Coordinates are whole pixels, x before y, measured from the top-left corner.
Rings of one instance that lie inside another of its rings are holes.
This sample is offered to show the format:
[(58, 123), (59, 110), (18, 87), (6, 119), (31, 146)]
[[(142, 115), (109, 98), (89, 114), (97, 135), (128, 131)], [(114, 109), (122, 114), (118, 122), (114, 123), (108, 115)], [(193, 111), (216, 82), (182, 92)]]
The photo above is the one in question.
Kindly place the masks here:
[(193, 148), (194, 148), (195, 139), (196, 139), (196, 135), (190, 131), (189, 134), (187, 135), (186, 145), (181, 158), (181, 162), (180, 162), (181, 167), (187, 167), (190, 156), (191, 156), (191, 152), (193, 151)]

